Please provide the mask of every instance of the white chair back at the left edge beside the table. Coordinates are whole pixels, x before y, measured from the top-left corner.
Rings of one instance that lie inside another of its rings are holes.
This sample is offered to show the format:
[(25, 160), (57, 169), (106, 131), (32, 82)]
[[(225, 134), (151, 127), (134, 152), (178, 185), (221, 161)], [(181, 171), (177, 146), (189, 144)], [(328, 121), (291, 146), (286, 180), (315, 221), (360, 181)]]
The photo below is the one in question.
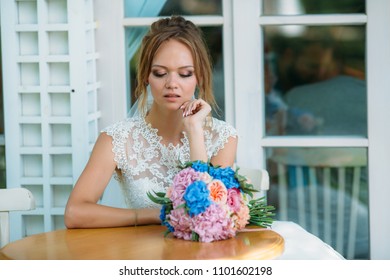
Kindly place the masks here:
[(9, 243), (9, 212), (33, 209), (35, 199), (28, 189), (0, 189), (0, 248)]

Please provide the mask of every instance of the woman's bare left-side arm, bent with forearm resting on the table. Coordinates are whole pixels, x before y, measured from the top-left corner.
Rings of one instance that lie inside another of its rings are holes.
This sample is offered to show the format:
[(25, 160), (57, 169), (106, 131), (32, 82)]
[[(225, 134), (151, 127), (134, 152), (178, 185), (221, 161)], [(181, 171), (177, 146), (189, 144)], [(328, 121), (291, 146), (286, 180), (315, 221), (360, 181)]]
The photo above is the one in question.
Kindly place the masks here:
[(69, 197), (68, 228), (119, 227), (160, 223), (158, 209), (122, 209), (97, 204), (116, 168), (112, 138), (102, 133)]

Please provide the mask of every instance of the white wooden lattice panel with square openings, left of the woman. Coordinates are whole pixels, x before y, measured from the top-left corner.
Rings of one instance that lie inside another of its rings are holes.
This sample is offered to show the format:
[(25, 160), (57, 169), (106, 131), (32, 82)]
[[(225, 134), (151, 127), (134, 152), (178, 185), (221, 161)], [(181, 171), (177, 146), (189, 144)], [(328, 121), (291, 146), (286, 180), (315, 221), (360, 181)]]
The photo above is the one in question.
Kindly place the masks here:
[(2, 0), (7, 187), (37, 209), (11, 216), (11, 240), (64, 227), (98, 135), (93, 0)]

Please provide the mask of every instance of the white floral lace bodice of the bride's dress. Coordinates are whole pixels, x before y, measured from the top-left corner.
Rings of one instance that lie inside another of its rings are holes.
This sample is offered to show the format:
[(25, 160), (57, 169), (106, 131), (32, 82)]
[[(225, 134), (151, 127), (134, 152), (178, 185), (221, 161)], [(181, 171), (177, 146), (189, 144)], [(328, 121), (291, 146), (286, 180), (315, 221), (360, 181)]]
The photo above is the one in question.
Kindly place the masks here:
[[(119, 181), (129, 208), (158, 207), (147, 197), (149, 191), (166, 191), (179, 171), (178, 165), (190, 160), (188, 138), (183, 133), (181, 144), (161, 143), (157, 129), (142, 117), (133, 117), (104, 129), (112, 137), (114, 160)], [(222, 149), (236, 130), (224, 121), (213, 118), (204, 130), (208, 158)]]

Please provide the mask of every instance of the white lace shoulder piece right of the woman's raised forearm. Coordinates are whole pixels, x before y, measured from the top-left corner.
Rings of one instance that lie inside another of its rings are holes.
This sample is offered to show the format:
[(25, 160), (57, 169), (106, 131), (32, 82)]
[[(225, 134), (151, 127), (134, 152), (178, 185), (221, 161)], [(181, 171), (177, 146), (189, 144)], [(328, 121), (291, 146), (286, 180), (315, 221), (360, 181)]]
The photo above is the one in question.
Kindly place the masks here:
[(218, 152), (224, 148), (225, 144), (228, 142), (230, 137), (236, 138), (237, 131), (236, 129), (221, 120), (213, 118), (212, 129), (211, 129), (211, 152), (212, 156), (218, 154)]

